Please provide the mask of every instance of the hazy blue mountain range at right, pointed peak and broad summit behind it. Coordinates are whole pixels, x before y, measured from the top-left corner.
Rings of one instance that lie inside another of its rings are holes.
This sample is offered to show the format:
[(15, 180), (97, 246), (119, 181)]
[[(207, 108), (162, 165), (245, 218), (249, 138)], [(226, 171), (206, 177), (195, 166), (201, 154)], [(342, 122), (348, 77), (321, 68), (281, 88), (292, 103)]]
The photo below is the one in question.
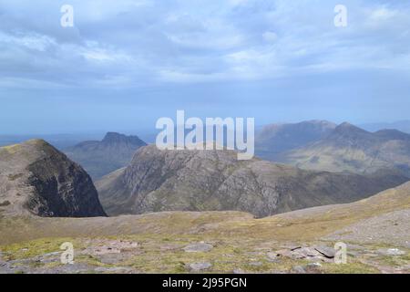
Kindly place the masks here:
[(390, 169), (410, 177), (410, 134), (399, 130), (369, 132), (347, 122), (305, 121), (265, 127), (258, 137), (257, 155), (271, 161), (328, 172)]

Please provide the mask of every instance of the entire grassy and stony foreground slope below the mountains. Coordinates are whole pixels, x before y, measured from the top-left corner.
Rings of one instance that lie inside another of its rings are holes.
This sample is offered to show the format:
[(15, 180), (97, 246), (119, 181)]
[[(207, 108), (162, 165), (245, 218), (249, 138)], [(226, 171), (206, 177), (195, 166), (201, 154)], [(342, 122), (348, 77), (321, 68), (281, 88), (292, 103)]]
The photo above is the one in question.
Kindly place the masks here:
[[(1, 208), (0, 208), (1, 211)], [(240, 212), (0, 218), (0, 273), (410, 273), (410, 183), (255, 219)], [(60, 245), (74, 246), (63, 265)], [(333, 246), (347, 245), (347, 264)]]

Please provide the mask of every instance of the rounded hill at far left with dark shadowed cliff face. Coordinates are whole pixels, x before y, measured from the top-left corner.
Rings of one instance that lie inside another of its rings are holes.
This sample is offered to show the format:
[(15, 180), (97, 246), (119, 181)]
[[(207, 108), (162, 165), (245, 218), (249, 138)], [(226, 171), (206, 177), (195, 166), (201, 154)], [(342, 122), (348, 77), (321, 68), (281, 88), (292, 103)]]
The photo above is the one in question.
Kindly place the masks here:
[(5, 214), (106, 215), (87, 172), (40, 140), (0, 148), (0, 205)]

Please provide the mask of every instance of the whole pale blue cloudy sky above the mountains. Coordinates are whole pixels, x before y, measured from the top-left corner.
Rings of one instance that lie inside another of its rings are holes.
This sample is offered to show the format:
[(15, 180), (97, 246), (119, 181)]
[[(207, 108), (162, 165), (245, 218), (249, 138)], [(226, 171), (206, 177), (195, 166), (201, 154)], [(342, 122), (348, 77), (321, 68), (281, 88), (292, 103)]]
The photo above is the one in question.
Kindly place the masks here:
[(0, 134), (392, 122), (409, 93), (409, 1), (0, 0)]

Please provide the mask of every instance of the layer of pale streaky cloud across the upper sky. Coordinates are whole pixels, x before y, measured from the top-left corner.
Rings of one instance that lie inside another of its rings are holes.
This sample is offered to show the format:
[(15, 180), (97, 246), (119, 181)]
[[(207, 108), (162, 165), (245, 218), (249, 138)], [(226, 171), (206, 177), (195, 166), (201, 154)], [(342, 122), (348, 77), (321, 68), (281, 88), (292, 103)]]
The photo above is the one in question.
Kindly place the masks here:
[[(361, 68), (402, 70), (410, 6), (335, 1), (72, 1), (75, 27), (59, 26), (61, 1), (1, 1), (0, 76), (6, 86), (138, 87), (255, 80)], [(333, 3), (334, 2), (334, 3)]]

